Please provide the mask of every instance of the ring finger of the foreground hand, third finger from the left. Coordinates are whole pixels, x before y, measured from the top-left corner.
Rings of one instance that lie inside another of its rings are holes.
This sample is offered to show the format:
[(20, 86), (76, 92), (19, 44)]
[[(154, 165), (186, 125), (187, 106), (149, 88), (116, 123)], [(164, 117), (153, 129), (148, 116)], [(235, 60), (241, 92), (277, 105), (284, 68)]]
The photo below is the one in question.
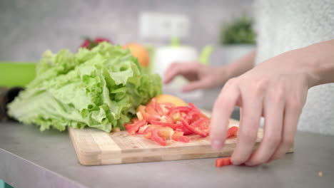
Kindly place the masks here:
[(280, 145), (282, 137), (284, 93), (279, 91), (272, 93), (265, 99), (265, 125), (263, 140), (246, 165), (253, 166), (263, 164), (270, 160), (275, 150)]

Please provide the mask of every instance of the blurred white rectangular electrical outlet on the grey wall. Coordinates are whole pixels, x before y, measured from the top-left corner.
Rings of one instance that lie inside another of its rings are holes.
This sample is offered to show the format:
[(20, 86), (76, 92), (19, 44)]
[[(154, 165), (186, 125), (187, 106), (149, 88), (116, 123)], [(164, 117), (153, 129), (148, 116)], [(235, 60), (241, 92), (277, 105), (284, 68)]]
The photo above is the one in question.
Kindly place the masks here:
[(142, 38), (186, 38), (189, 30), (188, 16), (159, 12), (141, 12), (139, 33)]

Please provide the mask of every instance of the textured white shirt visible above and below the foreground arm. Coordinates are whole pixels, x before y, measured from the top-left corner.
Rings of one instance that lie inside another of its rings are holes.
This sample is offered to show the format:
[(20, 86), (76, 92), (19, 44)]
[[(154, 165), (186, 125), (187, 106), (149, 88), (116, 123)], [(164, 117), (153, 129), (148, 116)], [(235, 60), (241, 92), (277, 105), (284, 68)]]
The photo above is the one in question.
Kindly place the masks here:
[[(334, 39), (334, 0), (258, 0), (254, 8), (256, 63)], [(310, 88), (298, 130), (334, 135), (334, 83)]]

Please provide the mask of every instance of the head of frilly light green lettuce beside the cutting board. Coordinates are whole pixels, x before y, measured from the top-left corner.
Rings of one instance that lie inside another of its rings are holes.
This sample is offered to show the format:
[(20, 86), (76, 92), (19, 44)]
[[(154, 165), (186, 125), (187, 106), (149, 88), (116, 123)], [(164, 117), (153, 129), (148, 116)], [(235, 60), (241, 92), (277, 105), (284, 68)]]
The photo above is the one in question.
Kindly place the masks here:
[(9, 115), (41, 130), (66, 126), (123, 129), (138, 105), (161, 93), (161, 78), (143, 74), (136, 58), (121, 46), (100, 43), (76, 54), (46, 51), (36, 78), (8, 105)]

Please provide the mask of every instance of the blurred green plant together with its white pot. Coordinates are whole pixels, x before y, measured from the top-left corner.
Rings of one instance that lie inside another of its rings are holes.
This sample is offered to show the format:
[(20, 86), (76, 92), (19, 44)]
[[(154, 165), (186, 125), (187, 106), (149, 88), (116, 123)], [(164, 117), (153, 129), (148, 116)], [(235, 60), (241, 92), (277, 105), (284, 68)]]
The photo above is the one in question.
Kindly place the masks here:
[(253, 19), (247, 14), (223, 23), (220, 34), (225, 63), (236, 61), (255, 49)]

